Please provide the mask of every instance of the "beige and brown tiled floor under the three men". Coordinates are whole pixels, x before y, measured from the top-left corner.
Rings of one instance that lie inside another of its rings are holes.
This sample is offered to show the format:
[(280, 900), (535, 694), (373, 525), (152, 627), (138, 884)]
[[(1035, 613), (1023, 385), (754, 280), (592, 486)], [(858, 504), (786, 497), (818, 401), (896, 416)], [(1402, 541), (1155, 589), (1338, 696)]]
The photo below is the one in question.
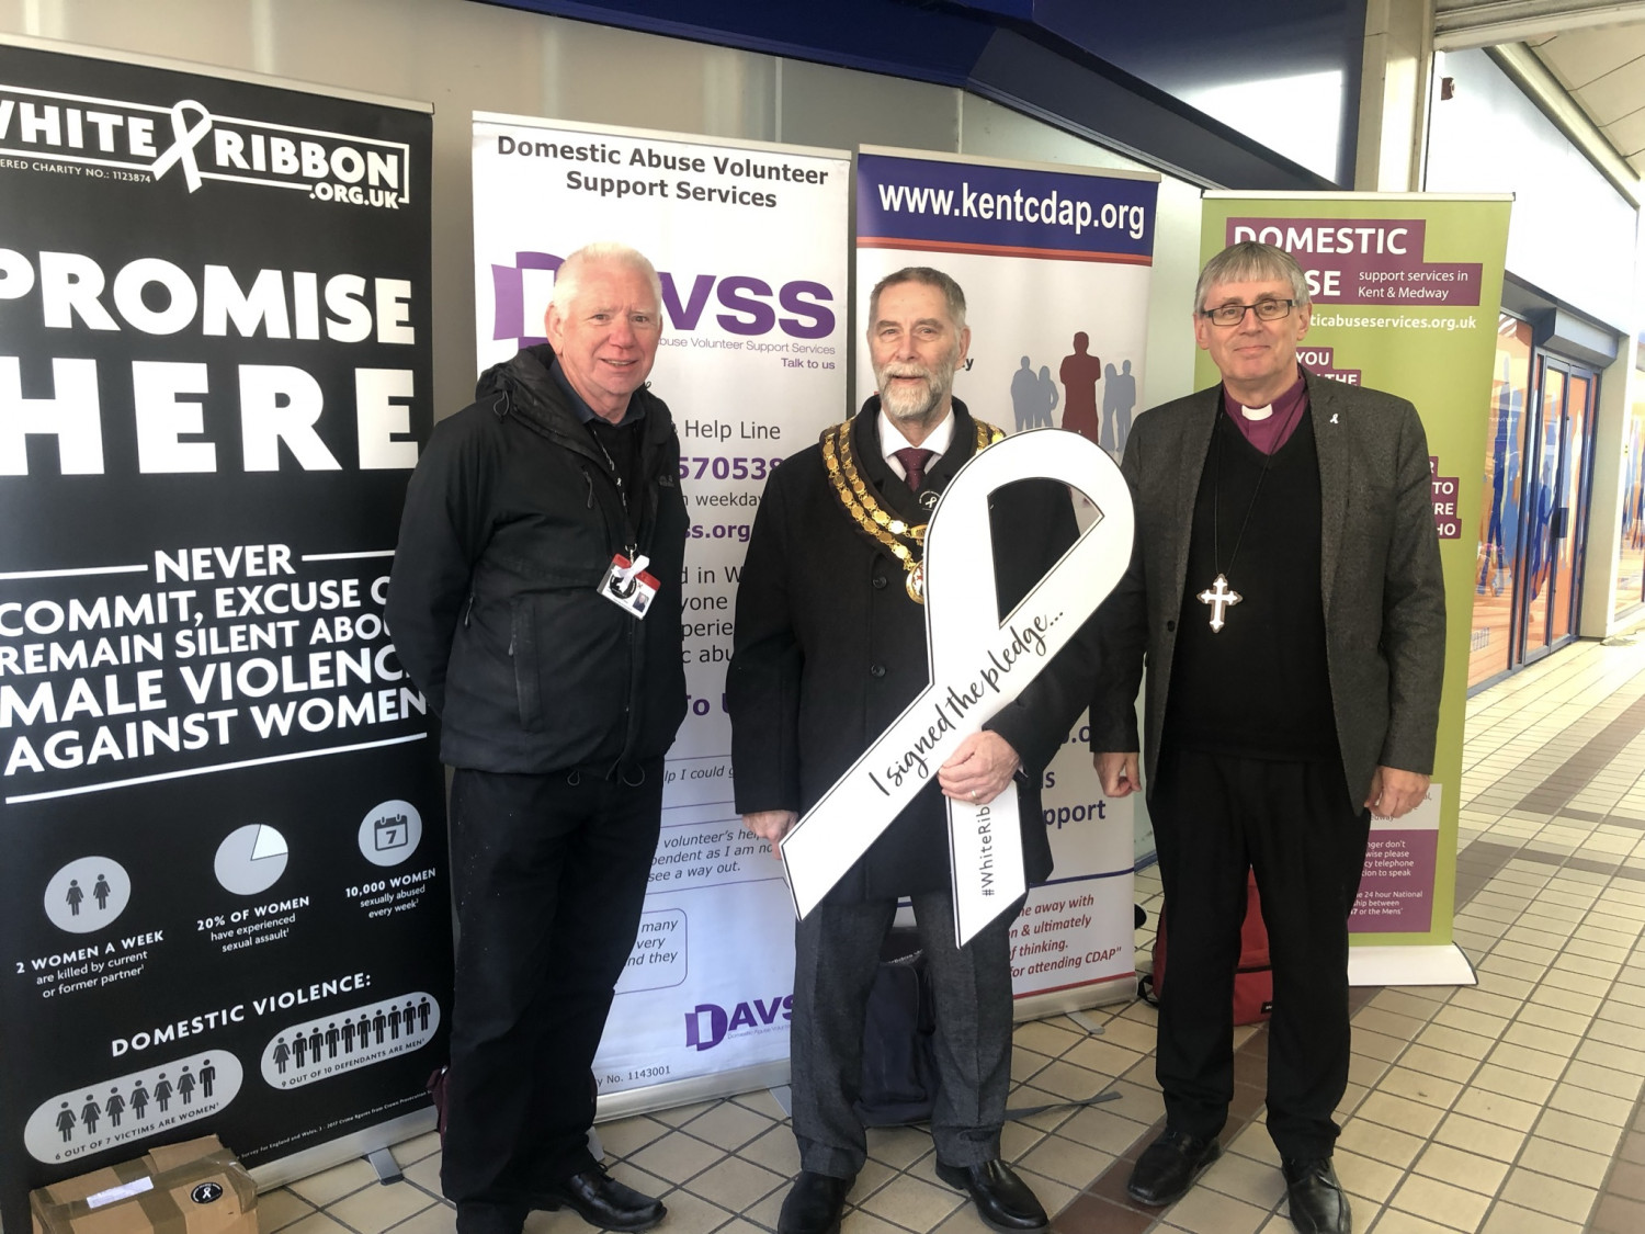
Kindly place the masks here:
[[(1477, 696), (1462, 777), (1456, 938), (1472, 989), (1357, 992), (1337, 1171), (1369, 1234), (1645, 1231), (1645, 637), (1581, 643)], [(1138, 875), (1158, 908), (1158, 879)], [(1145, 954), (1152, 938), (1138, 936)], [(1143, 1004), (1017, 1030), (1013, 1106), (1119, 1101), (1010, 1124), (1005, 1152), (1064, 1234), (1290, 1231), (1262, 1125), (1265, 1030), (1242, 1030), (1229, 1152), (1165, 1211), (1125, 1201), (1161, 1117)], [(798, 1168), (781, 1107), (750, 1093), (600, 1125), (612, 1173), (665, 1195), (668, 1234), (770, 1231)], [(846, 1234), (985, 1229), (933, 1173), (924, 1130), (873, 1132)], [(433, 1135), (262, 1198), (263, 1234), (449, 1234)], [(536, 1213), (528, 1234), (586, 1229)]]

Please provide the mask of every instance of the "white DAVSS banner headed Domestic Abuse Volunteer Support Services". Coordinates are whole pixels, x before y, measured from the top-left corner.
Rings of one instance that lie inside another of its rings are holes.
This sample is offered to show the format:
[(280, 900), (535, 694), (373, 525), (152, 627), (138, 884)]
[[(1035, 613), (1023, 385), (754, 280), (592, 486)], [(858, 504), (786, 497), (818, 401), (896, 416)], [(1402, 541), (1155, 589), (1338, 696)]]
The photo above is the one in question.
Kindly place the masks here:
[(640, 936), (594, 1063), (602, 1096), (676, 1084), (701, 1096), (706, 1078), (788, 1058), (793, 905), (770, 846), (732, 806), (724, 689), (765, 477), (846, 405), (849, 171), (831, 151), (474, 120), (482, 369), (543, 342), (554, 270), (584, 244), (633, 245), (663, 281), (651, 385), (674, 415), (691, 512), (679, 581), (691, 699)]

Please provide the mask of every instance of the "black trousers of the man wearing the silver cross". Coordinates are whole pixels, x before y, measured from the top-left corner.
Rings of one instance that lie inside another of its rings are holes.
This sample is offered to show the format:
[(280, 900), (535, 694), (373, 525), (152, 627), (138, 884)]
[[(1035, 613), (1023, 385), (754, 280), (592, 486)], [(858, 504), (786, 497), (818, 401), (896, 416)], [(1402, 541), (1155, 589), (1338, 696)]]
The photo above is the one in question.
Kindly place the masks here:
[(1285, 1158), (1326, 1157), (1347, 1088), (1347, 916), (1370, 811), (1337, 762), (1161, 752), (1148, 800), (1171, 959), (1155, 1073), (1166, 1122), (1216, 1135), (1234, 1097), (1234, 969), (1245, 872), (1257, 872), (1273, 963), (1268, 1134)]

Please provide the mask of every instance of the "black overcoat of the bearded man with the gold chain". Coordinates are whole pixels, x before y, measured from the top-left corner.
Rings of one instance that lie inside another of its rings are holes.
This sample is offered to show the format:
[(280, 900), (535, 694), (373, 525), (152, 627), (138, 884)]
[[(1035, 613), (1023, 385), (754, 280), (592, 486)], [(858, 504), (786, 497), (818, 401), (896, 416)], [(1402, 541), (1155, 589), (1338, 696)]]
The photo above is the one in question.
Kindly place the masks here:
[[(852, 418), (857, 471), (878, 502), (911, 523), (920, 502), (880, 454), (880, 400)], [(954, 401), (954, 439), (926, 476), (941, 492), (975, 452), (975, 421)], [(1000, 615), (1074, 541), (1068, 489), (1023, 480), (990, 499)], [(979, 559), (982, 554), (979, 553)], [(924, 607), (908, 597), (903, 566), (841, 508), (821, 446), (785, 461), (765, 485), (737, 591), (727, 675), (737, 811), (804, 813), (926, 688)], [(1023, 760), (1020, 806), (1030, 882), (1051, 872), (1040, 808), (1045, 767), (1089, 693), (1089, 648), (1076, 640), (987, 727)], [(949, 887), (948, 811), (931, 782), (829, 893), (832, 902), (890, 898)]]

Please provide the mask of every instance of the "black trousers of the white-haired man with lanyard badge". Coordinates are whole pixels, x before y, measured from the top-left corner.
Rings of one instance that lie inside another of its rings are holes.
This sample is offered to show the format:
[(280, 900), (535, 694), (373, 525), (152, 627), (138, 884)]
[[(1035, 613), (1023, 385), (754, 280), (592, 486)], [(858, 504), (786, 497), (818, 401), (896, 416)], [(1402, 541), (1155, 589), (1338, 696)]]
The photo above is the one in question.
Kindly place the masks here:
[(457, 986), (441, 1185), (518, 1203), (594, 1163), (591, 1065), (633, 949), (663, 760), (451, 785)]

